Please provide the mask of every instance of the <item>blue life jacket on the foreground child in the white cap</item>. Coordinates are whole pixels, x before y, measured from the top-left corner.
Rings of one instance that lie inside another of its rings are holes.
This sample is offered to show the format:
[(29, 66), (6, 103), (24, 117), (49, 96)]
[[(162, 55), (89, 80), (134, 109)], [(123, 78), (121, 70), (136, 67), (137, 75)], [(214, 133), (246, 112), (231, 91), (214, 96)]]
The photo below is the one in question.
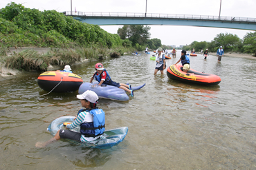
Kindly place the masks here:
[[(89, 111), (93, 115), (93, 122), (91, 123), (82, 123), (80, 125), (80, 133), (84, 137), (93, 137), (100, 136), (105, 131), (105, 113), (102, 109), (80, 109), (78, 114), (82, 111)], [(77, 114), (77, 115), (78, 115)]]

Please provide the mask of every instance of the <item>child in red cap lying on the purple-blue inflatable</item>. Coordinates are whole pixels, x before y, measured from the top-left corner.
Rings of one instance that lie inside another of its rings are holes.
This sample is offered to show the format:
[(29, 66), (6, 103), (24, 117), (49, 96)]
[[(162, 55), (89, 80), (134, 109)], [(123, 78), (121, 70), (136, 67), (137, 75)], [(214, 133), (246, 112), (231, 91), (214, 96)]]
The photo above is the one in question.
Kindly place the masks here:
[(116, 82), (112, 81), (107, 70), (105, 70), (103, 68), (102, 63), (95, 64), (95, 70), (96, 70), (96, 72), (91, 77), (90, 83), (92, 83), (93, 78), (95, 78), (95, 80), (99, 82), (98, 85), (102, 85), (102, 84), (113, 85), (120, 89), (124, 89), (126, 92), (129, 92), (131, 97), (134, 96), (134, 91), (131, 89), (131, 85), (125, 85), (123, 83), (116, 83)]

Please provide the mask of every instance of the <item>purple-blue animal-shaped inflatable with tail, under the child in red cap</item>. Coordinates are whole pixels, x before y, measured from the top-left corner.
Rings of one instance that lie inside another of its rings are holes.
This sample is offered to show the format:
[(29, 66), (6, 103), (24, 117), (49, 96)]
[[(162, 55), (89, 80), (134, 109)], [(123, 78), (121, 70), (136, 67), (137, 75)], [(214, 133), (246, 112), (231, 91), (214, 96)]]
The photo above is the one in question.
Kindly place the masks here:
[[(138, 90), (144, 87), (146, 84), (132, 87), (132, 90)], [(121, 100), (126, 101), (129, 100), (129, 96), (126, 94), (124, 89), (120, 89), (118, 87), (112, 85), (98, 85), (98, 82), (93, 83), (82, 83), (78, 89), (79, 94), (83, 94), (86, 90), (90, 89), (91, 91), (95, 92), (99, 98), (109, 98), (112, 100)]]

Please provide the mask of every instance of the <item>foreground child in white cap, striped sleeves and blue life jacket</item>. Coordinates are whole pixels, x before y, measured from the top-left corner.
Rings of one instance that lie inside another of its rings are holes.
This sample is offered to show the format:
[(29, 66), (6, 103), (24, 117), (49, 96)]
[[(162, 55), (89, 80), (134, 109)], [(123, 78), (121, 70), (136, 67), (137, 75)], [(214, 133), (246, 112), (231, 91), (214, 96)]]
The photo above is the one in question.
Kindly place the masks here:
[[(60, 138), (68, 138), (77, 140), (78, 142), (91, 142), (102, 136), (105, 130), (105, 114), (102, 109), (98, 109), (98, 95), (91, 90), (86, 90), (83, 94), (77, 95), (80, 99), (82, 107), (73, 123), (66, 123), (66, 129), (60, 129), (57, 134), (46, 142), (37, 142), (36, 147), (46, 147), (51, 142), (55, 142)], [(67, 129), (75, 129), (80, 126), (80, 133)]]

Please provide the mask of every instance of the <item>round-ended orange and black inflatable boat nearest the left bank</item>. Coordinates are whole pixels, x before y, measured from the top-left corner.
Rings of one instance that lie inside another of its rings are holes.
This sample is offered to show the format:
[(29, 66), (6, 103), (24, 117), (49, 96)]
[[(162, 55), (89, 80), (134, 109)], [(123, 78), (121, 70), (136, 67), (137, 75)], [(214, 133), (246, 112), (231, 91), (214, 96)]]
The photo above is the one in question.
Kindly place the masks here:
[(48, 92), (52, 89), (52, 92), (75, 92), (82, 83), (80, 76), (70, 72), (49, 71), (40, 74), (37, 78), (39, 87)]

